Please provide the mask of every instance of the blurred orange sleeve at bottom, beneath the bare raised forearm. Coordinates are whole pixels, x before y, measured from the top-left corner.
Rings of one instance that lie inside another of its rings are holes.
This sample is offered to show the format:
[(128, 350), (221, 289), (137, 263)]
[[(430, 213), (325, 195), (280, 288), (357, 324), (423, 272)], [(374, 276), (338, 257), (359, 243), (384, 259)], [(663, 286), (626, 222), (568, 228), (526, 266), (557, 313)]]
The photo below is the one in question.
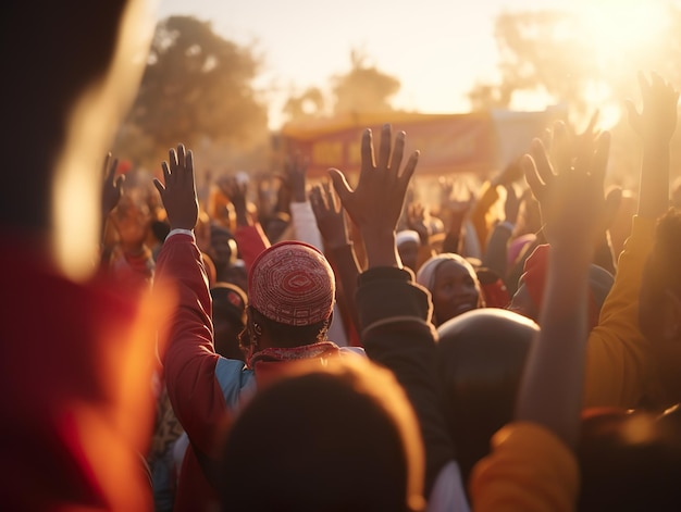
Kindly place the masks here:
[(573, 511), (579, 467), (572, 451), (534, 423), (511, 423), (492, 438), (492, 453), (473, 467), (475, 512)]

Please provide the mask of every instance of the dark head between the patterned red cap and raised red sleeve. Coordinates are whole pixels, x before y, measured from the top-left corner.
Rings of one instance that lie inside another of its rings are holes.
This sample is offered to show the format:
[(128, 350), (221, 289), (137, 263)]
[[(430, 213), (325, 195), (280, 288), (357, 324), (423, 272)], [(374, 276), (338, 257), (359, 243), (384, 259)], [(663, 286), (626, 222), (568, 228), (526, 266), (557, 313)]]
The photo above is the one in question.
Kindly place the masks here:
[(215, 283), (210, 296), (213, 300), (215, 352), (244, 361), (238, 335), (246, 327), (246, 292), (231, 283)]

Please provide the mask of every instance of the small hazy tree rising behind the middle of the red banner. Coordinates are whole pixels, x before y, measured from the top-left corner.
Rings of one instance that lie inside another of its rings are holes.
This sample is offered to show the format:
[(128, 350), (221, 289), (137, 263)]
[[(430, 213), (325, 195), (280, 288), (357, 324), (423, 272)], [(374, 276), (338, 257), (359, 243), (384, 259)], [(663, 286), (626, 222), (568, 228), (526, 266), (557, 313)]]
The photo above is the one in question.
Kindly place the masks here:
[(391, 99), (399, 91), (399, 80), (367, 63), (367, 57), (350, 51), (350, 71), (332, 77), (334, 112), (391, 112)]

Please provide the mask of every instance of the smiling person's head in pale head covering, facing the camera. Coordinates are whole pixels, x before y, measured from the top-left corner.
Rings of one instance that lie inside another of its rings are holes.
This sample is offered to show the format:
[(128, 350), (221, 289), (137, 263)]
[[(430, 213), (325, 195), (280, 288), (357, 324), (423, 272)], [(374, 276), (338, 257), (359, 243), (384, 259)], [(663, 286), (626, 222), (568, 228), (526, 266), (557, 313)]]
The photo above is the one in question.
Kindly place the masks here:
[(435, 325), (485, 305), (475, 270), (459, 254), (431, 258), (419, 269), (417, 283), (431, 292)]

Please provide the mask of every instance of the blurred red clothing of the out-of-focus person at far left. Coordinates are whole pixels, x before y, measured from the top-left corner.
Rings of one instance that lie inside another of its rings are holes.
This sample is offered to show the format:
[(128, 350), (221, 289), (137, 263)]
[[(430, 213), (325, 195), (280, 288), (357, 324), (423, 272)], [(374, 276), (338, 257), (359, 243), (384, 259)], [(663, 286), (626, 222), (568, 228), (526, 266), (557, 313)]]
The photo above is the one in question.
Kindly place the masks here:
[(150, 300), (79, 285), (5, 243), (0, 287), (3, 510), (151, 510)]

